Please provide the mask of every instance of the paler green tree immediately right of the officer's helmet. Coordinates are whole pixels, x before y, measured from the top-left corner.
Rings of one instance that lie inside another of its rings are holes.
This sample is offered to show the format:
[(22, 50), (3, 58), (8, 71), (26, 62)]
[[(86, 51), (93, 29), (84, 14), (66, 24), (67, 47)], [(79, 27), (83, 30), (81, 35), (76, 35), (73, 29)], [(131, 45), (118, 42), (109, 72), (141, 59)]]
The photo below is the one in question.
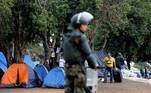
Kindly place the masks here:
[(126, 14), (129, 11), (129, 5), (126, 0), (103, 0), (98, 3), (98, 7), (98, 36), (96, 36), (95, 45), (98, 46), (97, 49), (108, 49), (110, 39), (114, 38), (114, 35), (119, 36), (122, 31), (124, 32), (123, 29), (128, 24)]

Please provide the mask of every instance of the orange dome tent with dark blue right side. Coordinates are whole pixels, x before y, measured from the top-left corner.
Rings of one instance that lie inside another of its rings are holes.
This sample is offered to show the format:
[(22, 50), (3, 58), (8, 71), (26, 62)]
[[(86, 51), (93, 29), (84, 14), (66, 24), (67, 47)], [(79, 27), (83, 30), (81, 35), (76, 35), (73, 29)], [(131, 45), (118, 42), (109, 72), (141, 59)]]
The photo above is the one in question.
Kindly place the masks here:
[(0, 87), (35, 87), (38, 77), (31, 67), (26, 64), (12, 64), (1, 79)]

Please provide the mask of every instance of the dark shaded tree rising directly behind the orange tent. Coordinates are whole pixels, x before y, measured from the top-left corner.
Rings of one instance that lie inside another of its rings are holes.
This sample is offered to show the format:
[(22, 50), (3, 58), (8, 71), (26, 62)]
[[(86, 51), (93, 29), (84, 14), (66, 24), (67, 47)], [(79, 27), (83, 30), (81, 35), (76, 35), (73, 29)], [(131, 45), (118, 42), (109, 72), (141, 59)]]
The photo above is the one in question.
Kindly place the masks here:
[(14, 43), (14, 62), (22, 57), (22, 50), (32, 42), (34, 33), (31, 22), (31, 0), (14, 0), (12, 11), (12, 42)]

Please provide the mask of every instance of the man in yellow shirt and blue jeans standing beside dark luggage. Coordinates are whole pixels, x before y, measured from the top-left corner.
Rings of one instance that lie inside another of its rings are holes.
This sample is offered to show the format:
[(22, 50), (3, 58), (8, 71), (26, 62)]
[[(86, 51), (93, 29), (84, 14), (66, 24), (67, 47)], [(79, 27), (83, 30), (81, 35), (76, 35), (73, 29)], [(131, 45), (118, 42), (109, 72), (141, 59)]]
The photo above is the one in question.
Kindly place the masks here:
[(113, 82), (113, 69), (116, 67), (115, 58), (112, 57), (111, 53), (108, 53), (107, 57), (104, 59), (105, 63), (105, 75), (104, 83), (107, 82), (108, 73), (110, 73), (110, 83)]

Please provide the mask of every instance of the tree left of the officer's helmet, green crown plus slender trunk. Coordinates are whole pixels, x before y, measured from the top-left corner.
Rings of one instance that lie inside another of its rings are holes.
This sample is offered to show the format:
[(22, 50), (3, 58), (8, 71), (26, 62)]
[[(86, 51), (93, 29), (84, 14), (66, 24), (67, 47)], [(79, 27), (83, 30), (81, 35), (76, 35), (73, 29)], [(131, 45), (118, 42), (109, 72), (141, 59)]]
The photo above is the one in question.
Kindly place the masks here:
[[(32, 6), (33, 29), (41, 36), (45, 50), (44, 63), (47, 64), (51, 50), (60, 43), (60, 36), (65, 29), (68, 4), (66, 0), (35, 0)], [(50, 37), (53, 42), (50, 42)]]

